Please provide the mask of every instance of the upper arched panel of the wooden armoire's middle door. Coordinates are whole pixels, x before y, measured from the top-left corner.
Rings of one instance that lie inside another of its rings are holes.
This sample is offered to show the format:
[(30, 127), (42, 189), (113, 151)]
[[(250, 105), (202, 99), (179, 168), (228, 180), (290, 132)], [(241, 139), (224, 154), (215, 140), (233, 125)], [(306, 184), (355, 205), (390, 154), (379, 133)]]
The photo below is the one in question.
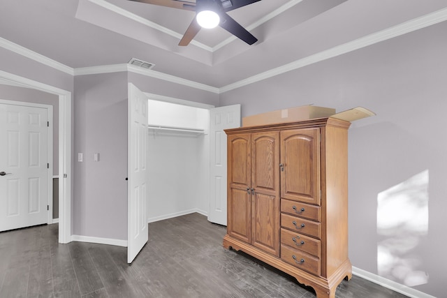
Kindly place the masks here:
[(279, 188), (279, 133), (252, 135), (252, 187), (256, 191), (276, 192)]

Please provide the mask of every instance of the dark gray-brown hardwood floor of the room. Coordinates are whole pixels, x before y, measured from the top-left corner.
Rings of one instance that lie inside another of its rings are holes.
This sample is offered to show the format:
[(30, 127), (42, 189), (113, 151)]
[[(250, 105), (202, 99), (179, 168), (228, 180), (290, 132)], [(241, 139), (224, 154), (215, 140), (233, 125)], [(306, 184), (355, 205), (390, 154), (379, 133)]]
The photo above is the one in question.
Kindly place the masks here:
[[(222, 247), (226, 228), (189, 214), (149, 224), (133, 264), (126, 248), (58, 244), (58, 225), (0, 233), (0, 297), (296, 297), (298, 284), (248, 255)], [(336, 297), (406, 297), (353, 276)]]

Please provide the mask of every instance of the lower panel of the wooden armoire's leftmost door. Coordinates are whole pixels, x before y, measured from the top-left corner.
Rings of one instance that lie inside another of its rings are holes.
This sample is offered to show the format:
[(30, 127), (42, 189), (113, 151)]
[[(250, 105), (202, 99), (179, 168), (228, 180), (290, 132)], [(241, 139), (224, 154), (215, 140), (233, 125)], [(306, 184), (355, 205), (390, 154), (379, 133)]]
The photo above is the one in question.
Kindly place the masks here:
[(242, 241), (251, 241), (251, 202), (248, 191), (230, 188), (227, 231)]

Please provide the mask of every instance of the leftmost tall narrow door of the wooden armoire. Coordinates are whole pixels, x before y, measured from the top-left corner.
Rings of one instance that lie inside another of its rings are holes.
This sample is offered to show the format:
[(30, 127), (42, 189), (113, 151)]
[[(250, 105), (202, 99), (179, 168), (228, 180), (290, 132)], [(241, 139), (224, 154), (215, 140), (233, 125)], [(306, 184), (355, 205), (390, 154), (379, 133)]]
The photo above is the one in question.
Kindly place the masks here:
[(251, 160), (249, 134), (228, 136), (227, 232), (251, 243)]

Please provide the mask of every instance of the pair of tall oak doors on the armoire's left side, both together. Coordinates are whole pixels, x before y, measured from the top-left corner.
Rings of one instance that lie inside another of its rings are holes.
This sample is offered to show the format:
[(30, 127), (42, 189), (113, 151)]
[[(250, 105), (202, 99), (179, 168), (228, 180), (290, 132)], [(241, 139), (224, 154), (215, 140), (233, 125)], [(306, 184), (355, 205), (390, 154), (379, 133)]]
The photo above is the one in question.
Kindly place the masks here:
[(279, 257), (279, 133), (228, 137), (228, 234)]

